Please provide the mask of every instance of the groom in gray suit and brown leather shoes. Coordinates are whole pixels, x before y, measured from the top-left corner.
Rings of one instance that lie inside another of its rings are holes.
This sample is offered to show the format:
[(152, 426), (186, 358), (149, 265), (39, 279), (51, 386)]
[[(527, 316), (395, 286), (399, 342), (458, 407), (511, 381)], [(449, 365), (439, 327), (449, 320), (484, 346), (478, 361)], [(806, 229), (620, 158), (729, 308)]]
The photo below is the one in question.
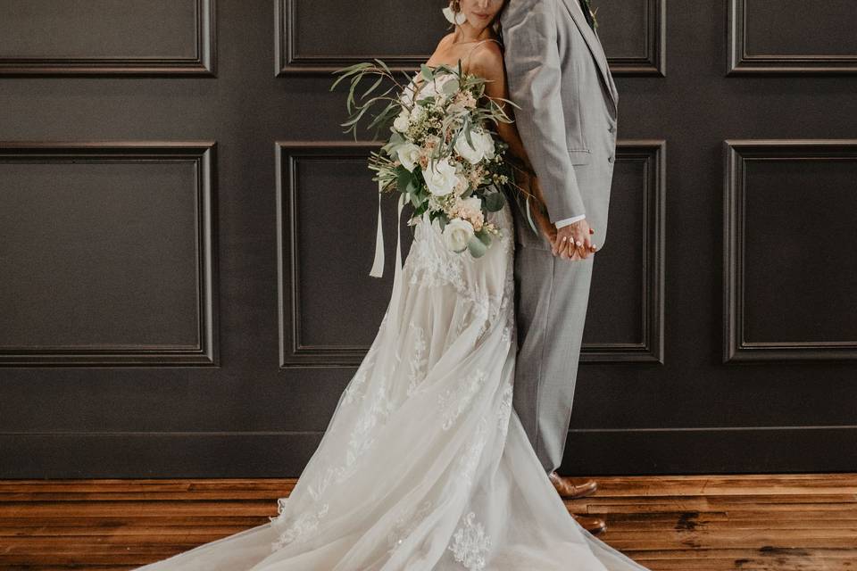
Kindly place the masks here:
[[(588, 0), (509, 0), (500, 16), (515, 121), (544, 196), (541, 236), (513, 208), (518, 358), (513, 403), (564, 497), (595, 492), (562, 464), (595, 250), (607, 236), (619, 95)], [(553, 224), (551, 224), (553, 223)], [(577, 517), (597, 533), (603, 519)]]

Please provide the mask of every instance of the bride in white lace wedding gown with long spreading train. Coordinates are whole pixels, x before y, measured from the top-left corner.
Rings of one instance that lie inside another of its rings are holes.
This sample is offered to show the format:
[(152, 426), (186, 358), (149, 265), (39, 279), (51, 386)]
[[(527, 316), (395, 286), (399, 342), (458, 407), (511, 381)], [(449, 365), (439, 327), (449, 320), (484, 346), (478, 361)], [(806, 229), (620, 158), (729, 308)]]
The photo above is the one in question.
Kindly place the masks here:
[[(464, 70), (493, 80), (488, 95), (505, 97), (492, 26), (504, 1), (464, 0), (466, 21), (427, 64), (461, 59)], [(525, 157), (513, 124), (498, 128)], [(404, 266), (397, 245), (378, 335), (277, 517), (138, 568), (645, 570), (570, 516), (512, 408), (510, 208), (489, 213), (502, 234), (480, 258), (451, 252), (425, 217)], [(550, 231), (544, 219), (539, 226)]]

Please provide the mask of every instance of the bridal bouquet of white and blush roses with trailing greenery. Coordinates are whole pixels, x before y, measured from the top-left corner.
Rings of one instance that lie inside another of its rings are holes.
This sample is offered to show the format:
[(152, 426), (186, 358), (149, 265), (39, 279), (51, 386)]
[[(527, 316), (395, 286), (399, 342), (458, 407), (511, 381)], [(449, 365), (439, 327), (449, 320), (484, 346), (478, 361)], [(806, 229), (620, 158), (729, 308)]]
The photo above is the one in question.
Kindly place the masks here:
[[(499, 234), (499, 228), (487, 221), (487, 213), (503, 208), (504, 187), (522, 191), (515, 184), (514, 169), (519, 167), (490, 125), (512, 122), (498, 101), (517, 105), (483, 96), (486, 79), (462, 73), (461, 61), (457, 69), (423, 64), (406, 86), (378, 59), (335, 73), (341, 75), (331, 90), (343, 79), (351, 79), (346, 102), (349, 118), (342, 123), (345, 133), (354, 130), (356, 139), (356, 126), (364, 114), (384, 104), (368, 127), (376, 128), (376, 138), (382, 128), (391, 132), (387, 145), (379, 153), (370, 153), (369, 168), (377, 172), (373, 180), (379, 183), (379, 200), (381, 193), (399, 193), (400, 207), (411, 203), (414, 208), (409, 225), (426, 215), (438, 220), (444, 242), (453, 252), (469, 251), (475, 258), (487, 252), (492, 237)], [(358, 101), (355, 91), (371, 75), (378, 79)], [(370, 97), (385, 79), (395, 85)], [(394, 90), (397, 93), (390, 95)]]

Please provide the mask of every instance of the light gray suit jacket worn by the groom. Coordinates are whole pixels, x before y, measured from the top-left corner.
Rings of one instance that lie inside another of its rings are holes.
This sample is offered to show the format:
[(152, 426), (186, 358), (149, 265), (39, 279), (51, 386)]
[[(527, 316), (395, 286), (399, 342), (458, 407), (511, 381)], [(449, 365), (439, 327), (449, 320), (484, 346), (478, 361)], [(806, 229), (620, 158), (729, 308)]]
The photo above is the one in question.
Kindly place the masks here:
[[(619, 94), (601, 40), (578, 0), (509, 0), (500, 19), (521, 141), (553, 222), (586, 214), (607, 236)], [(515, 206), (517, 242), (549, 249)]]

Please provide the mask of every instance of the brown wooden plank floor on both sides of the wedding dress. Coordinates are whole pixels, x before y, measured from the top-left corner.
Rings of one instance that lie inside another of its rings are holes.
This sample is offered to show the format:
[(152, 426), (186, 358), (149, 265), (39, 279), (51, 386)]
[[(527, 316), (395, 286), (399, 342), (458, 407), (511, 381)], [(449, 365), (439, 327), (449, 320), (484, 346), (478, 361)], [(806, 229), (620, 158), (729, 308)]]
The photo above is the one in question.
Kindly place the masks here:
[[(857, 571), (857, 474), (595, 476), (570, 511), (656, 571)], [(294, 479), (0, 481), (0, 569), (138, 567), (276, 515)]]

